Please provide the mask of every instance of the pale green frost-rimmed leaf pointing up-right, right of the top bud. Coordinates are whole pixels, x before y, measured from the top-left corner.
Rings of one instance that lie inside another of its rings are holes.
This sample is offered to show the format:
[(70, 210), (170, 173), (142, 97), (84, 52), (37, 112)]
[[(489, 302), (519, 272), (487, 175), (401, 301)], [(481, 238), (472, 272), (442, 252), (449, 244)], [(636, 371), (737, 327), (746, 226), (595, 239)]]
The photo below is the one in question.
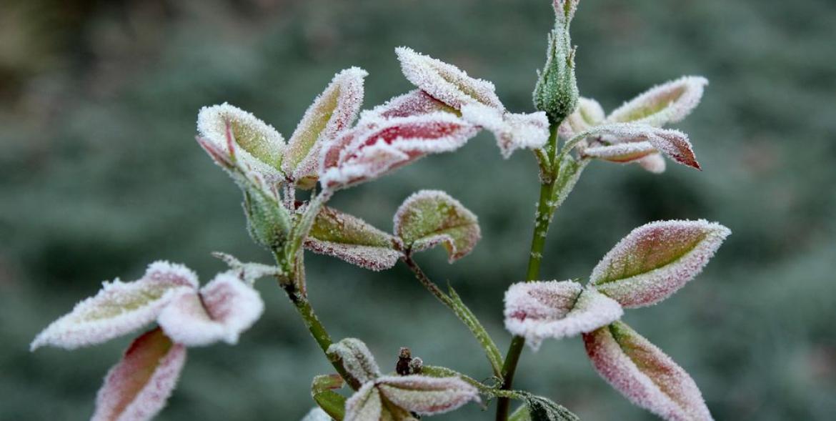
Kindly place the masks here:
[(685, 76), (654, 86), (614, 110), (607, 116), (607, 121), (656, 127), (682, 121), (700, 103), (706, 85), (706, 78)]

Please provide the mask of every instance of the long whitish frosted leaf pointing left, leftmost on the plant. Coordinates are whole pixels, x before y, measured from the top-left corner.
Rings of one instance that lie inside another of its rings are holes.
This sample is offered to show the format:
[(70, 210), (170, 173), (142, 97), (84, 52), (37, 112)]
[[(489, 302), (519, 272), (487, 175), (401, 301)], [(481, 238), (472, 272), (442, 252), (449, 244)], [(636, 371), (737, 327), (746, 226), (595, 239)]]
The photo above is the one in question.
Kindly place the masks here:
[(104, 282), (98, 294), (38, 334), (31, 348), (74, 349), (110, 341), (154, 321), (174, 296), (196, 288), (197, 276), (186, 266), (155, 262), (140, 280)]

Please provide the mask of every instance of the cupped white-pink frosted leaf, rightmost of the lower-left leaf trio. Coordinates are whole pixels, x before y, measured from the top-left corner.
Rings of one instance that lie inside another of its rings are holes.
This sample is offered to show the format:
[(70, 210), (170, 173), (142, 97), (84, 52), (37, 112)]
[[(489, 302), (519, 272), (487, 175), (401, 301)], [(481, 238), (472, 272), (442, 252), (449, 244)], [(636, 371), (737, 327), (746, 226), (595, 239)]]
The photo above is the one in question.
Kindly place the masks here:
[(263, 311), (257, 291), (229, 271), (218, 274), (199, 295), (193, 291), (177, 295), (157, 322), (172, 340), (189, 347), (217, 341), (235, 344)]

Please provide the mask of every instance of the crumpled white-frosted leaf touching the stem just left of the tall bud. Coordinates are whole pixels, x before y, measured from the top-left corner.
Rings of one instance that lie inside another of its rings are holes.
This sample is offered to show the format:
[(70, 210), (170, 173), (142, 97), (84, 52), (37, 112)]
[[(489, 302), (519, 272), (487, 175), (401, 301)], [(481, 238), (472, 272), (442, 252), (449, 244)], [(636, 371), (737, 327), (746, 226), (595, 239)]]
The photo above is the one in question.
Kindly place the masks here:
[(492, 131), (505, 158), (517, 149), (538, 149), (548, 142), (548, 117), (543, 111), (514, 114), (487, 105), (469, 104), (461, 107), (461, 117)]

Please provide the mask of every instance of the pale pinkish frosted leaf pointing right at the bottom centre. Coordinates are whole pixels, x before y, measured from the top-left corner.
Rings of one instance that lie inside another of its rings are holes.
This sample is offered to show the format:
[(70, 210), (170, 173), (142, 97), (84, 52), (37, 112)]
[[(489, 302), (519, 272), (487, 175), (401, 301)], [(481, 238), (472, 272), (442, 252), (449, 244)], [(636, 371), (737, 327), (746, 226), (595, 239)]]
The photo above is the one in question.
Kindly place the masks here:
[(479, 402), (477, 388), (459, 377), (380, 377), (377, 387), (391, 403), (422, 415), (446, 413), (465, 403)]

